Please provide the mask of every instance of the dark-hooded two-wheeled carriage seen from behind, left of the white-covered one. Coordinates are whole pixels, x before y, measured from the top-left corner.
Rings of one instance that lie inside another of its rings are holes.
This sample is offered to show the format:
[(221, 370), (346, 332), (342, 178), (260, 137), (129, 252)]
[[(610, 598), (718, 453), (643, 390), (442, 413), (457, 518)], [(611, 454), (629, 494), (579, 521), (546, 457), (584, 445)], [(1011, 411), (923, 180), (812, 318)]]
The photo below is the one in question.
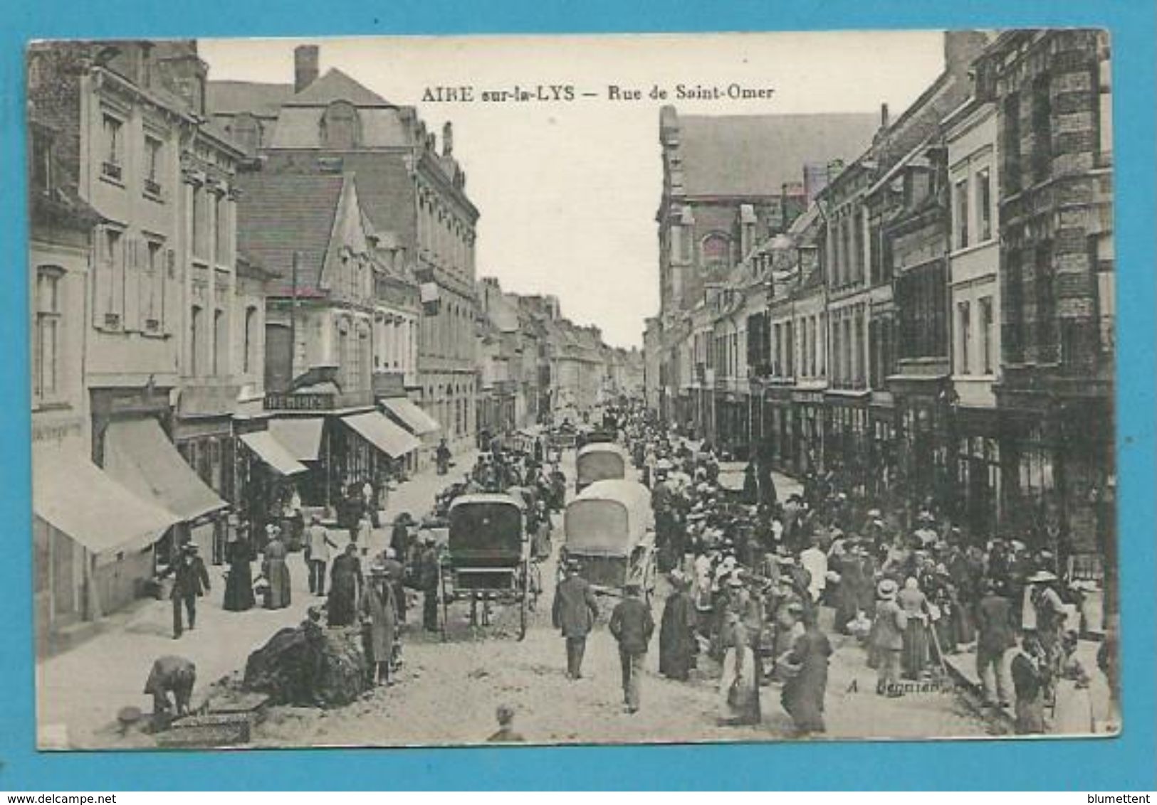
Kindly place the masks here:
[(531, 556), (524, 505), (510, 494), (463, 494), (450, 504), (449, 535), (439, 564), (442, 639), (450, 604), (470, 601), (472, 626), (489, 621), (494, 603), (518, 606), (518, 640), (526, 636), (530, 610), (541, 590)]

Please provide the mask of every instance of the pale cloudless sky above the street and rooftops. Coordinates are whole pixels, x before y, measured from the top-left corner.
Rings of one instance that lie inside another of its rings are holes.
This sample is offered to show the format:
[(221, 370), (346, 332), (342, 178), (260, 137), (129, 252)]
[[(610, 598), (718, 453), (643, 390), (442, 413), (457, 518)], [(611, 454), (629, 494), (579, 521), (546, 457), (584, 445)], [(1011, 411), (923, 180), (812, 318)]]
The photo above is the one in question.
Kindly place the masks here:
[[(209, 80), (292, 83), (293, 50), (305, 42), (202, 39), (199, 52)], [(938, 31), (308, 42), (320, 45), (322, 73), (337, 67), (391, 103), (415, 106), (440, 136), (444, 121), (454, 124), (454, 154), (481, 213), (479, 277), (557, 295), (563, 315), (628, 348), (641, 345), (643, 320), (658, 311), (663, 104), (680, 113), (784, 114), (878, 113), (887, 103), (896, 119), (943, 67)], [(718, 87), (724, 97), (679, 99), (677, 84)], [(732, 99), (731, 84), (772, 91)], [(423, 99), (462, 85), (472, 88), (471, 100)], [(516, 85), (541, 87), (547, 98), (552, 85), (570, 85), (575, 99), (482, 97)], [(656, 88), (666, 97), (651, 97)]]

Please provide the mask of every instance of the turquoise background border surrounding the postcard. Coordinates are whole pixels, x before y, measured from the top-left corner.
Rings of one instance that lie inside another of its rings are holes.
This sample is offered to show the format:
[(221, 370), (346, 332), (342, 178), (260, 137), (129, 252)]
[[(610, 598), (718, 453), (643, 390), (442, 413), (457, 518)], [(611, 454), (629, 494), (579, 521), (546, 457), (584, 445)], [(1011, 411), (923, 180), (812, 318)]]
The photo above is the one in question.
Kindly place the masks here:
[[(0, 791), (182, 789), (1152, 790), (1155, 636), (1154, 0), (8, 0), (0, 8)], [(1114, 740), (768, 744), (519, 750), (37, 754), (29, 522), (22, 47), (31, 38), (1105, 27), (1117, 119), (1119, 499), (1125, 733)]]

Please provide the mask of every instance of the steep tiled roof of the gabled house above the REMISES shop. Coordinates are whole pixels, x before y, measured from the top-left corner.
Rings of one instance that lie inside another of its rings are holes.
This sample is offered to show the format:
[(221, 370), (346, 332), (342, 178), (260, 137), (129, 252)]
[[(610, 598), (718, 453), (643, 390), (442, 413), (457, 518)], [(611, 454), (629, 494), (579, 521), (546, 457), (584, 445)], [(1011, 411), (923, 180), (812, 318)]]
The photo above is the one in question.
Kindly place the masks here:
[(346, 177), (304, 173), (242, 173), (237, 248), (280, 277), (271, 292), (290, 289), (294, 252), (300, 254), (297, 290), (319, 290)]

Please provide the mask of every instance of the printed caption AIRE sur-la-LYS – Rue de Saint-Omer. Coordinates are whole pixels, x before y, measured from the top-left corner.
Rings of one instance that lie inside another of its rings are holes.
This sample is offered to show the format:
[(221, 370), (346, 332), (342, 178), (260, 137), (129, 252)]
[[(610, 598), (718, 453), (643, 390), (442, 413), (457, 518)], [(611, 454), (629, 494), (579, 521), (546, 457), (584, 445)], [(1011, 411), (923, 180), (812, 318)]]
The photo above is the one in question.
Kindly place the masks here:
[(422, 91), (422, 103), (570, 103), (602, 99), (636, 100), (765, 100), (775, 92), (769, 87), (728, 84), (675, 84), (673, 87), (627, 87), (606, 84), (598, 89), (576, 84), (513, 84), (510, 87), (476, 87), (473, 84), (433, 84)]

